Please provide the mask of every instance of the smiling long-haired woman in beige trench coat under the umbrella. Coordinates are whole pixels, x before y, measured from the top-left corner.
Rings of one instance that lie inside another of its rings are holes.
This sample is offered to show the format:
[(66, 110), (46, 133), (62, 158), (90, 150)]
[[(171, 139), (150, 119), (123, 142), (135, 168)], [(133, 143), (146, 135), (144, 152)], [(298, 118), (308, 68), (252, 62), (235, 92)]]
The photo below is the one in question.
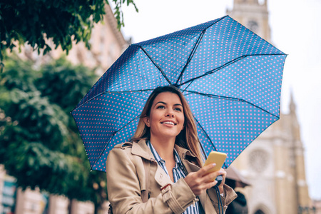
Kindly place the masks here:
[[(222, 213), (236, 194), (224, 184), (225, 170), (208, 174), (214, 165), (202, 165), (196, 125), (183, 93), (174, 86), (156, 88), (131, 142), (108, 154), (113, 213)], [(218, 175), (223, 175), (220, 193), (213, 188), (217, 181), (209, 181)]]

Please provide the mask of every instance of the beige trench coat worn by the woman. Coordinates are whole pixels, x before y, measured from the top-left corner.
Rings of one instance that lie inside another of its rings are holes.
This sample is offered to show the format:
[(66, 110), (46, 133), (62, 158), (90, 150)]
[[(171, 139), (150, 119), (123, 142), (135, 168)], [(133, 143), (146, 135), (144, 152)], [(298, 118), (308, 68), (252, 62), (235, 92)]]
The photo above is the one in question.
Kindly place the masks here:
[[(114, 214), (183, 213), (189, 205), (198, 200), (184, 179), (180, 178), (176, 183), (170, 180), (154, 159), (145, 140), (133, 143), (132, 146), (131, 143), (128, 144), (115, 146), (107, 157), (107, 192)], [(200, 169), (190, 162), (194, 158), (190, 151), (179, 146), (175, 146), (175, 149), (188, 173)], [(147, 179), (149, 185), (146, 185), (144, 164), (150, 164)], [(150, 198), (143, 203), (141, 193), (146, 190), (146, 186)], [(226, 210), (237, 195), (232, 188), (224, 185), (224, 196), (220, 197)], [(199, 200), (205, 213), (218, 213), (218, 198), (214, 188), (199, 195)]]

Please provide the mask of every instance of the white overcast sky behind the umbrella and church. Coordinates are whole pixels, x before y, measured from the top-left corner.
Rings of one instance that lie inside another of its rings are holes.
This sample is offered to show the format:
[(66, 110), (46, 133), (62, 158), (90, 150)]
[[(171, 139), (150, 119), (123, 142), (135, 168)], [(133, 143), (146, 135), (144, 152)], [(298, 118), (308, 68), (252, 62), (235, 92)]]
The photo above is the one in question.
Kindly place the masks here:
[[(233, 0), (135, 0), (123, 7), (126, 39), (153, 39), (225, 16)], [(281, 111), (287, 113), (290, 91), (297, 104), (305, 147), (307, 183), (311, 198), (321, 199), (321, 1), (269, 0), (272, 43), (285, 54)]]

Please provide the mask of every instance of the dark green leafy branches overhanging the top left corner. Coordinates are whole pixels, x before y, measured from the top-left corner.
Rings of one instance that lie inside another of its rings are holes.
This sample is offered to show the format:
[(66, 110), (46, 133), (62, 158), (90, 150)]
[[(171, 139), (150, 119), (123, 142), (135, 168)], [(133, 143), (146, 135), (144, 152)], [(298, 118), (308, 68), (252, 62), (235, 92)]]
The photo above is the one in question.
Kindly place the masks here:
[[(133, 0), (112, 0), (115, 5), (114, 16), (118, 29), (123, 24), (123, 4), (132, 4)], [(72, 39), (77, 43), (83, 41), (89, 48), (93, 24), (103, 20), (108, 0), (3, 0), (0, 1), (0, 63), (4, 51), (25, 43), (34, 50), (44, 49), (44, 54), (51, 50), (47, 39), (52, 39), (55, 48), (61, 46), (63, 51), (72, 48)], [(72, 38), (72, 39), (71, 39)]]

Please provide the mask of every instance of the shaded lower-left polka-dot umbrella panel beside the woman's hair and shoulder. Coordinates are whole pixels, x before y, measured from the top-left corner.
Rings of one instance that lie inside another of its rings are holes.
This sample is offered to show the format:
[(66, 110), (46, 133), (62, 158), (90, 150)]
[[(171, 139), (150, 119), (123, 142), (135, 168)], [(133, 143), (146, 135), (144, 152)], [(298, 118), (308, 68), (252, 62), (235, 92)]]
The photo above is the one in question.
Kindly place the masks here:
[(106, 92), (72, 112), (93, 169), (106, 170), (105, 164), (95, 166), (103, 151), (130, 140), (150, 93)]

